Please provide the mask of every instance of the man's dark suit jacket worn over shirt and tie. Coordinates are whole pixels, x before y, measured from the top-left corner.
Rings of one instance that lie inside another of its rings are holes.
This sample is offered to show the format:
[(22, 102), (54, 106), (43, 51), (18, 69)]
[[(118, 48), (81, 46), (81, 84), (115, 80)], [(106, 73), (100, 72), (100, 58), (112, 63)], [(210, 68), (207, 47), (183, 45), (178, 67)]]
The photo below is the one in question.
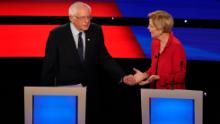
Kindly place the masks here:
[(101, 27), (92, 23), (85, 34), (85, 60), (81, 62), (70, 23), (50, 32), (43, 62), (42, 83), (49, 86), (82, 83), (87, 86), (87, 104), (98, 104), (94, 102), (98, 100), (96, 96), (99, 95), (100, 73), (110, 75), (116, 83), (124, 73), (107, 52)]

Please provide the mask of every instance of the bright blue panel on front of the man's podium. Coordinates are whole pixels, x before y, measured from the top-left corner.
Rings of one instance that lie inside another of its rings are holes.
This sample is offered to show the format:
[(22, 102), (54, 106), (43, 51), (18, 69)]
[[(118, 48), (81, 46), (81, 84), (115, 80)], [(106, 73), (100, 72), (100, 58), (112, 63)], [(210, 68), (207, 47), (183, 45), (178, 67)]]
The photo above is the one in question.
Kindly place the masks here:
[(77, 96), (33, 96), (34, 124), (77, 124)]

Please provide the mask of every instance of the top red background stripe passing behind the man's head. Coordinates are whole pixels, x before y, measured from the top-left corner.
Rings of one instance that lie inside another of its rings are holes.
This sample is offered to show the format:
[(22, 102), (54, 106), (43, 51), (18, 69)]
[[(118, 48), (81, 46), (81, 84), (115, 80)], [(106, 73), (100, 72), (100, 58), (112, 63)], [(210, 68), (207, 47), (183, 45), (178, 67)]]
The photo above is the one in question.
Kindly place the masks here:
[[(54, 1), (0, 2), (0, 16), (68, 16), (71, 3)], [(113, 2), (88, 2), (88, 4), (92, 7), (92, 16), (121, 16), (117, 5)]]

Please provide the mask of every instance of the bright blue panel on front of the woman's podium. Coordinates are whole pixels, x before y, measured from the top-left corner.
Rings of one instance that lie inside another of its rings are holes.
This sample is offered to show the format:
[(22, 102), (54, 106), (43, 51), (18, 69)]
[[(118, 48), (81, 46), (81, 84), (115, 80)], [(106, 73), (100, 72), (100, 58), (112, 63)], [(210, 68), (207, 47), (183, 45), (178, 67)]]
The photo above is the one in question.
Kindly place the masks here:
[(150, 98), (150, 124), (194, 124), (194, 100)]

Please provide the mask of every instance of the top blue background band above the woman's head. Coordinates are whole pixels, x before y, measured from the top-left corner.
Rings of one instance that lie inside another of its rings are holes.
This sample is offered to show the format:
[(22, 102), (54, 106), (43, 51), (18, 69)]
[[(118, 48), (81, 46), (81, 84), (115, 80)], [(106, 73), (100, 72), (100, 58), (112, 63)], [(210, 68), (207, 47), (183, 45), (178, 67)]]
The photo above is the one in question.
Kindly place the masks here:
[(220, 19), (219, 0), (116, 0), (124, 17), (147, 17), (149, 12), (165, 10), (181, 19)]

